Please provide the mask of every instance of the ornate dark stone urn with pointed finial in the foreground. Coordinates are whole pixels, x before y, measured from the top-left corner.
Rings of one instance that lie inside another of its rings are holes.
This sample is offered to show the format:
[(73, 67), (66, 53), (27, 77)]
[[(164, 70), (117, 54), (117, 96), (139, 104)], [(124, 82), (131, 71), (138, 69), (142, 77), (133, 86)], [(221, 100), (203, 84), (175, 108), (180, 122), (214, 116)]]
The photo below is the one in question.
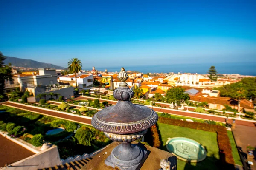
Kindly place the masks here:
[(109, 139), (122, 142), (105, 159), (107, 166), (120, 170), (139, 170), (148, 152), (131, 142), (142, 138), (148, 128), (157, 122), (158, 116), (153, 109), (130, 102), (134, 92), (125, 82), (128, 75), (124, 68), (121, 68), (117, 78), (121, 83), (113, 96), (118, 102), (96, 113), (92, 118), (92, 125), (103, 131)]

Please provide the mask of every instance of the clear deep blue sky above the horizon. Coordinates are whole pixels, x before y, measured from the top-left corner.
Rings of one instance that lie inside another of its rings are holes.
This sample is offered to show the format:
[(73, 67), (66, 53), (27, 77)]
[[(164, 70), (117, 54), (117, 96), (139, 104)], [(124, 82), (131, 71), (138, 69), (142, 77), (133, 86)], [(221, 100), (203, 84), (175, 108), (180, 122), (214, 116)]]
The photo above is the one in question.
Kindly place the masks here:
[(256, 0), (2, 0), (0, 51), (66, 67), (256, 62)]

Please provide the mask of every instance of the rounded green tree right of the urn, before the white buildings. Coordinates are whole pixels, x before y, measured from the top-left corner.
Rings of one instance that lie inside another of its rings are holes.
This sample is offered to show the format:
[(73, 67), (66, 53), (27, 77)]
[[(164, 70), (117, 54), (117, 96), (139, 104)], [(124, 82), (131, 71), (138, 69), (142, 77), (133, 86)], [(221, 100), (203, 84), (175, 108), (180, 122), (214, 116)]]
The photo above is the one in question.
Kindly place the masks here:
[(183, 103), (186, 100), (189, 100), (189, 94), (184, 93), (184, 89), (180, 86), (169, 88), (166, 92), (166, 100), (167, 102), (175, 102), (178, 101), (180, 103)]

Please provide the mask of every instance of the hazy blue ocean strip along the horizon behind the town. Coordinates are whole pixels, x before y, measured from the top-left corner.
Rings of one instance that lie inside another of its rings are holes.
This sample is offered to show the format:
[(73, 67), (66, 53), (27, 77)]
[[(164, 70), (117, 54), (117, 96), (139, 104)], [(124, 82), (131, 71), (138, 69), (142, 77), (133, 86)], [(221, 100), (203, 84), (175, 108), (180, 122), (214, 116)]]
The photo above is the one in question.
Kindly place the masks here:
[[(212, 64), (170, 64), (170, 65), (142, 65), (142, 66), (124, 66), (125, 70), (140, 71), (142, 73), (198, 73), (207, 74), (209, 68), (214, 65), (219, 74), (241, 74), (256, 76), (256, 62), (231, 62), (231, 63), (212, 63)], [(96, 67), (96, 70), (119, 72), (119, 67)], [(92, 67), (84, 68), (91, 70)]]

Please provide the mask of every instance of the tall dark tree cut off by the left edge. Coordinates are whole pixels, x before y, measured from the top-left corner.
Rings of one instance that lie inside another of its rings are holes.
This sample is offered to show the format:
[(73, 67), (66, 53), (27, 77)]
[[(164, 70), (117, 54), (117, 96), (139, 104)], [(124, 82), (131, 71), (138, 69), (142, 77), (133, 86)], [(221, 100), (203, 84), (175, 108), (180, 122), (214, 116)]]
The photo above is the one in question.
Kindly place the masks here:
[(4, 64), (5, 59), (6, 57), (0, 52), (0, 94), (3, 94), (5, 80), (12, 80), (12, 67), (11, 64)]

